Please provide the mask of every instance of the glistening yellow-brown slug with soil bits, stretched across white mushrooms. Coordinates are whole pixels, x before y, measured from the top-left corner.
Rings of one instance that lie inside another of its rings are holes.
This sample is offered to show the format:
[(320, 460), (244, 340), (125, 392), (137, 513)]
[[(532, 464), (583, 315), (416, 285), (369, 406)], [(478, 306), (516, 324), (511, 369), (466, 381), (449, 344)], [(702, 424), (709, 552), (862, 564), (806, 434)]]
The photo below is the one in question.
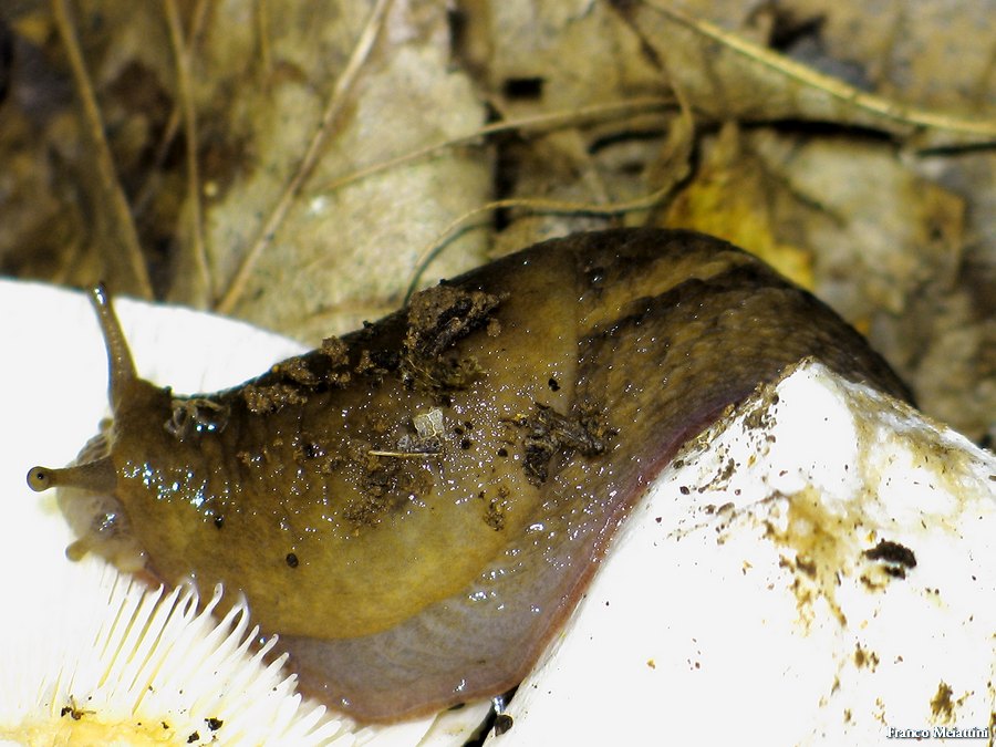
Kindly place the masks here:
[(301, 689), (392, 722), (515, 686), (688, 438), (815, 356), (907, 398), (806, 291), (682, 230), (546, 241), (235, 388), (141, 378), (92, 293), (113, 419), (58, 486), (68, 550), (221, 581)]

